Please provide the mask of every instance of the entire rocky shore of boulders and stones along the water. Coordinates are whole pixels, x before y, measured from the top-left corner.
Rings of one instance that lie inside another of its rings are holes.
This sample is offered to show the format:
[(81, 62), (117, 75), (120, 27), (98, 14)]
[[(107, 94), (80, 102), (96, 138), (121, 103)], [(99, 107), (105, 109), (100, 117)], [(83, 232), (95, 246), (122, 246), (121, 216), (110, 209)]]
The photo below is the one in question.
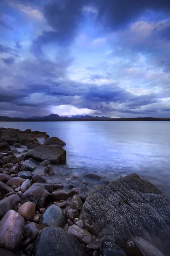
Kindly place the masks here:
[(74, 173), (65, 187), (48, 183), (66, 161), (64, 145), (45, 132), (0, 128), (0, 256), (169, 256), (166, 196), (136, 174), (91, 191), (85, 180), (74, 186)]

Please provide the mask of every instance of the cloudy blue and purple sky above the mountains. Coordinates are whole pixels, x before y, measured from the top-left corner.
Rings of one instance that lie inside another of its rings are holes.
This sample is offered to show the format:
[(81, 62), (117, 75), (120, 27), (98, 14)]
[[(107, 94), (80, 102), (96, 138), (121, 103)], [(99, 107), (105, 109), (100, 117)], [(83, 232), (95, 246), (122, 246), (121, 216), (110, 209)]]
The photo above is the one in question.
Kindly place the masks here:
[(0, 115), (170, 117), (169, 0), (0, 0)]

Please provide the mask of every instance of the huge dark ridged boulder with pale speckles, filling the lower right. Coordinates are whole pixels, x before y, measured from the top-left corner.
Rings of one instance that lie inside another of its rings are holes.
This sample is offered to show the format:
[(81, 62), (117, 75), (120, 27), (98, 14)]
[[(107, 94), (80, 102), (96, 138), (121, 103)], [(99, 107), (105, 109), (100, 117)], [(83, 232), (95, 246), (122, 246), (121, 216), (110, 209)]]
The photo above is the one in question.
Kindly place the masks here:
[(132, 236), (150, 241), (164, 255), (170, 244), (170, 204), (138, 175), (128, 175), (99, 186), (88, 195), (81, 217), (85, 229), (125, 249)]

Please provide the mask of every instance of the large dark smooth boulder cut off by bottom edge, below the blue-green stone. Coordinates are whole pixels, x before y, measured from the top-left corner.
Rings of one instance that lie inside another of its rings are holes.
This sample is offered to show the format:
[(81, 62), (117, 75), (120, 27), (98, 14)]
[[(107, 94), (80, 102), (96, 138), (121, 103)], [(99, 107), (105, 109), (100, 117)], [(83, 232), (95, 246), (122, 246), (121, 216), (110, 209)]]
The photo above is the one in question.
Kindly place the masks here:
[(40, 231), (30, 256), (86, 256), (82, 245), (60, 227)]

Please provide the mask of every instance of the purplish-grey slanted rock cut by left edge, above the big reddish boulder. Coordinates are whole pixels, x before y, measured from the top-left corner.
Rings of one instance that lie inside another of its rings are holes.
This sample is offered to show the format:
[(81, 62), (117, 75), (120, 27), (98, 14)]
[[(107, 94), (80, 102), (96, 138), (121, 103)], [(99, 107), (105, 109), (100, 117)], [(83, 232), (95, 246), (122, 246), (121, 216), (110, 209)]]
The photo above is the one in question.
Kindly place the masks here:
[(9, 195), (0, 201), (0, 219), (11, 209), (14, 209), (20, 203), (19, 195)]

